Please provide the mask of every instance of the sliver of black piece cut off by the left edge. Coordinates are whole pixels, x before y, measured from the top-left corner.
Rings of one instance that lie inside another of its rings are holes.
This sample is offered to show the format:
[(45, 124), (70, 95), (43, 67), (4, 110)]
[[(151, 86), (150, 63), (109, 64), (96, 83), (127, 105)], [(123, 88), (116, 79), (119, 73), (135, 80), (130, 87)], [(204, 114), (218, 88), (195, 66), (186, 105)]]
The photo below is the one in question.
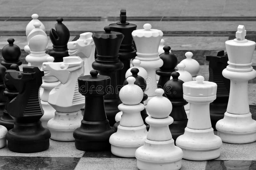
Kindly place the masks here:
[(4, 85), (4, 76), (6, 68), (3, 65), (0, 65), (0, 117), (3, 115), (7, 97), (4, 96), (3, 92), (5, 90)]

